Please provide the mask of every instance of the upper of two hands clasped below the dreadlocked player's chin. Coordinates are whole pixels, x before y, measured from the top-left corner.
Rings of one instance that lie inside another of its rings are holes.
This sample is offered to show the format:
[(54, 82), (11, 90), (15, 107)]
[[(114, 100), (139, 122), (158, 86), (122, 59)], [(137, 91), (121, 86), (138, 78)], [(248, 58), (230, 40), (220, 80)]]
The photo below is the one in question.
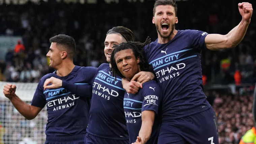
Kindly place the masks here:
[(133, 76), (131, 81), (136, 81), (143, 84), (147, 81), (153, 80), (155, 78), (154, 74), (152, 72), (139, 72)]

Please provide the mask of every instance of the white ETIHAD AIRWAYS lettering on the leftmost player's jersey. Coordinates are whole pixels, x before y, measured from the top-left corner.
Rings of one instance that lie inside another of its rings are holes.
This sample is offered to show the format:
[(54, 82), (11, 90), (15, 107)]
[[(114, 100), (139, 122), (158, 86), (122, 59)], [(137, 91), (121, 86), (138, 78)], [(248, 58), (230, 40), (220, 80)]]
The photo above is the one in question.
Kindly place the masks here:
[[(72, 107), (74, 100), (79, 99), (75, 94), (47, 102), (47, 107), (54, 107), (53, 111)], [(61, 105), (62, 104), (62, 105)]]

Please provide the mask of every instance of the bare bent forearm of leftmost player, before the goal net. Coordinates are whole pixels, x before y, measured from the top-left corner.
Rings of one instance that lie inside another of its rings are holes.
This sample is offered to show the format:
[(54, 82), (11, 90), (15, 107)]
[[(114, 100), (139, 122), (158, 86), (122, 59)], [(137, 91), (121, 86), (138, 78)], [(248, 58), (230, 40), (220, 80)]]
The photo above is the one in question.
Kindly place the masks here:
[(35, 115), (32, 113), (31, 107), (29, 104), (23, 102), (16, 94), (9, 99), (13, 106), (28, 120), (35, 118)]

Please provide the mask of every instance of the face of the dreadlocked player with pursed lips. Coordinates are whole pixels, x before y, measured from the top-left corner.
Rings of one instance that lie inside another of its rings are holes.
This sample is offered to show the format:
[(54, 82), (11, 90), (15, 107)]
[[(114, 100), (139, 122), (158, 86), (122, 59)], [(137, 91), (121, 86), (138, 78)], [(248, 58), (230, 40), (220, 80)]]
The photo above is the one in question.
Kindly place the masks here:
[(132, 49), (117, 52), (115, 54), (115, 61), (118, 70), (128, 79), (132, 79), (132, 77), (139, 72), (139, 58), (135, 58)]

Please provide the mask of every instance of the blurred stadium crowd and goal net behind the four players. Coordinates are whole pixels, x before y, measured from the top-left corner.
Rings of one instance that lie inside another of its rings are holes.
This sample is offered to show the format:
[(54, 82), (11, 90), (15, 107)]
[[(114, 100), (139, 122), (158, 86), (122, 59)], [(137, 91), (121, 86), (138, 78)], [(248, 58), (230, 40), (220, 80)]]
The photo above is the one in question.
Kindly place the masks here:
[[(49, 38), (66, 34), (77, 44), (75, 65), (105, 63), (106, 32), (115, 26), (133, 31), (137, 41), (157, 38), (152, 24), (154, 0), (0, 0), (0, 144), (43, 144), (46, 107), (26, 120), (2, 93), (6, 82), (17, 84), (17, 95), (32, 100), (37, 82), (49, 69)], [(177, 0), (176, 29), (227, 34), (242, 16), (237, 4), (253, 0)], [(255, 12), (254, 12), (255, 13)], [(219, 124), (219, 143), (238, 144), (254, 125), (253, 91), (256, 82), (256, 19), (253, 15), (244, 40), (236, 47), (202, 51), (207, 100)]]

